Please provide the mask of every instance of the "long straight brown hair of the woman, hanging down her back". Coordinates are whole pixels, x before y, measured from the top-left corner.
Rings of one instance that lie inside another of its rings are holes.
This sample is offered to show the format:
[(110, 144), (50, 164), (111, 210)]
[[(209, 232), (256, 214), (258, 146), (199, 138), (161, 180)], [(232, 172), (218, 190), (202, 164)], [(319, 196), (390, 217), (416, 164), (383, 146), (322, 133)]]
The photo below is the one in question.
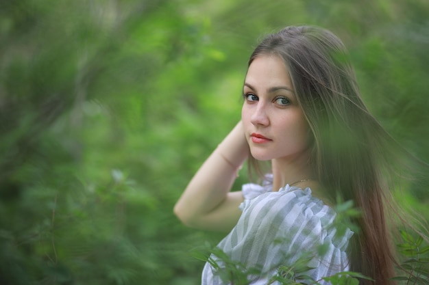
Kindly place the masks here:
[[(318, 27), (286, 27), (256, 47), (249, 64), (262, 54), (278, 55), (289, 71), (295, 96), (312, 132), (311, 163), (326, 195), (353, 200), (362, 215), (349, 246), (350, 269), (390, 285), (395, 255), (386, 208), (390, 180), (402, 161), (400, 147), (363, 103), (345, 46)], [(360, 284), (372, 284), (360, 280)]]

